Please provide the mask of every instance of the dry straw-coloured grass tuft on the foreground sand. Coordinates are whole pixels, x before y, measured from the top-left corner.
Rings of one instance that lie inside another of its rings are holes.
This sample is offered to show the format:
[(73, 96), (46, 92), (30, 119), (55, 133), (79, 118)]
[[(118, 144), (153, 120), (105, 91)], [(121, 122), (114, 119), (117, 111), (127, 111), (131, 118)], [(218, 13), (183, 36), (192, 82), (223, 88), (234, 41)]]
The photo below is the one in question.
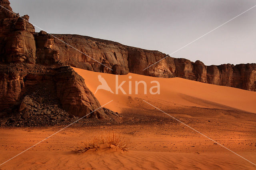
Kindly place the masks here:
[(129, 143), (130, 139), (126, 139), (121, 134), (113, 132), (101, 137), (96, 136), (90, 141), (81, 142), (75, 151), (77, 151), (77, 154), (82, 154), (87, 150), (98, 150), (102, 144), (106, 144), (109, 149), (118, 147), (123, 151), (127, 151)]

